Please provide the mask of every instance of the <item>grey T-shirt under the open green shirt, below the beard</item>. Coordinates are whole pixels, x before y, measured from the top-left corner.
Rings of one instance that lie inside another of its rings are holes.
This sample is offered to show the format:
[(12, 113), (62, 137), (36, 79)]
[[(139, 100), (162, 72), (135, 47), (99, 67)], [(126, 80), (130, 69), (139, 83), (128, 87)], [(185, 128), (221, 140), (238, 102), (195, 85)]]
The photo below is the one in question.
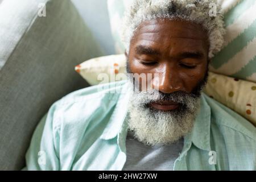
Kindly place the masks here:
[(183, 148), (183, 138), (168, 145), (146, 146), (134, 138), (132, 131), (126, 137), (126, 162), (123, 171), (172, 171)]

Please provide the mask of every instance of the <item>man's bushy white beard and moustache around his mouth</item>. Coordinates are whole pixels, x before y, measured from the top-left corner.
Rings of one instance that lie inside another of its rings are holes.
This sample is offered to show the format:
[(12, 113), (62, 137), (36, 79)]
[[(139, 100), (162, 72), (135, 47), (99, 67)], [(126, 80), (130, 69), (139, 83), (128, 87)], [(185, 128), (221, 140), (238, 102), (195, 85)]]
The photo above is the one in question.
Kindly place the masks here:
[[(133, 84), (130, 82), (130, 86)], [(188, 134), (200, 109), (200, 97), (175, 96), (171, 100), (186, 105), (184, 110), (161, 111), (145, 106), (161, 100), (156, 90), (133, 92), (128, 111), (128, 128), (143, 144), (171, 144)]]

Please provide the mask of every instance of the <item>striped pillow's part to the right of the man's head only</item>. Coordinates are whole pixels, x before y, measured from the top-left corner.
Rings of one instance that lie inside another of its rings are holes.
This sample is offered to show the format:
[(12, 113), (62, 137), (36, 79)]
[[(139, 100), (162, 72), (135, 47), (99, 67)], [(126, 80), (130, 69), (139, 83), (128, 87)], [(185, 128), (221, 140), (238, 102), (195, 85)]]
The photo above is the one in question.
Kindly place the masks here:
[[(210, 71), (256, 82), (256, 1), (233, 0), (224, 6), (224, 48), (214, 56)], [(235, 6), (234, 6), (235, 5)]]

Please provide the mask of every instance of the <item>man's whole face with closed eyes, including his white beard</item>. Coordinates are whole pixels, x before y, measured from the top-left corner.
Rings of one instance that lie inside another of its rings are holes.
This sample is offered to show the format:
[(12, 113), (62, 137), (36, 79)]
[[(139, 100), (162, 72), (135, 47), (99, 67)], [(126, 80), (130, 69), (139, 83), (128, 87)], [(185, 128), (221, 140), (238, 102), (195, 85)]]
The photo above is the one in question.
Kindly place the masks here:
[[(151, 73), (152, 78), (147, 83), (160, 96), (151, 98), (150, 93), (138, 93), (132, 98), (130, 128), (139, 140), (147, 144), (173, 142), (184, 135), (181, 134), (184, 127), (192, 127), (201, 87), (207, 79), (208, 50), (207, 32), (198, 24), (168, 19), (141, 24), (130, 42), (127, 72)], [(137, 87), (143, 90), (141, 80)], [(134, 118), (137, 121), (133, 121)], [(184, 123), (184, 119), (191, 122)], [(166, 130), (169, 134), (176, 130), (172, 134), (175, 136), (157, 137), (161, 125), (171, 127)], [(148, 132), (151, 138), (155, 134), (158, 139), (149, 141)]]

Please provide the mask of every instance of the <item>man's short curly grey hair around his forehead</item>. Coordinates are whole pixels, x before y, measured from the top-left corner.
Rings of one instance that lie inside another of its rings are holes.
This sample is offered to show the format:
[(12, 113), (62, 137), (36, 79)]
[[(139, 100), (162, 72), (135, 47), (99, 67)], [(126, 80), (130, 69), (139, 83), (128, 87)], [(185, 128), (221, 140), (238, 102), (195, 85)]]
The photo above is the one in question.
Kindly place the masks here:
[[(217, 7), (216, 16), (210, 16), (210, 3)], [(208, 57), (214, 56), (224, 43), (224, 21), (216, 0), (134, 0), (126, 11), (123, 24), (123, 42), (129, 53), (130, 41), (140, 26), (147, 20), (167, 18), (181, 19), (203, 26), (208, 32), (210, 44)]]

